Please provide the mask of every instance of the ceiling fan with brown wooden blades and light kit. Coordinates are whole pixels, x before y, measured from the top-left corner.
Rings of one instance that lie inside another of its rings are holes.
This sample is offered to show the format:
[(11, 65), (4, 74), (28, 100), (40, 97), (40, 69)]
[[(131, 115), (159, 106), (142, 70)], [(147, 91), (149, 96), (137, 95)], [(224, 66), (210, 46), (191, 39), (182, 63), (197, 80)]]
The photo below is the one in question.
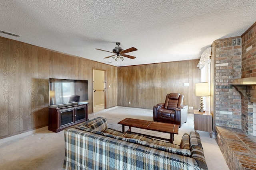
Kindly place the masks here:
[(136, 58), (136, 57), (134, 57), (134, 56), (124, 54), (124, 53), (130, 53), (130, 52), (132, 52), (132, 51), (137, 51), (136, 48), (131, 47), (131, 48), (129, 48), (129, 49), (124, 50), (124, 49), (122, 49), (121, 47), (119, 47), (120, 43), (116, 43), (116, 45), (117, 45), (117, 47), (115, 47), (115, 48), (112, 50), (113, 52), (111, 52), (111, 51), (106, 51), (106, 50), (102, 50), (102, 49), (96, 49), (96, 50), (106, 51), (106, 52), (109, 52), (109, 53), (115, 53), (115, 55), (110, 55), (110, 56), (108, 56), (108, 57), (104, 57), (104, 59), (107, 59), (107, 58), (109, 58), (109, 57), (113, 57), (113, 59), (114, 59), (115, 61), (117, 61), (119, 58), (123, 61), (123, 60), (124, 60), (123, 57), (127, 57), (127, 58), (130, 58), (130, 59), (135, 59), (135, 58)]

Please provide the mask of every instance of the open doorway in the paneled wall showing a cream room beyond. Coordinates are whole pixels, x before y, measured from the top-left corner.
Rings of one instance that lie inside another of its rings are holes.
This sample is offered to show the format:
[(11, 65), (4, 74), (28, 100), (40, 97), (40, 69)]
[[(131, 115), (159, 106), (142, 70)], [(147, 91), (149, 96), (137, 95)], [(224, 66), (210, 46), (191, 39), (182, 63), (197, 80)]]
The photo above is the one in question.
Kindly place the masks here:
[(93, 69), (93, 113), (106, 109), (106, 70)]

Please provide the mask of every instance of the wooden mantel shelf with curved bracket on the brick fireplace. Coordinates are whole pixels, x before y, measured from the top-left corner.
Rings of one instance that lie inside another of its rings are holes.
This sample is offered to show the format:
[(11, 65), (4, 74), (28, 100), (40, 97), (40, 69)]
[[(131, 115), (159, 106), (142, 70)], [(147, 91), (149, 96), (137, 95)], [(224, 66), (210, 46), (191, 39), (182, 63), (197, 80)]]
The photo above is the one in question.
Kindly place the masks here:
[[(230, 80), (228, 83), (230, 85), (234, 85), (236, 89), (246, 97), (246, 85), (256, 85), (256, 77), (248, 77), (248, 78), (238, 78)], [(244, 86), (245, 85), (245, 86)]]

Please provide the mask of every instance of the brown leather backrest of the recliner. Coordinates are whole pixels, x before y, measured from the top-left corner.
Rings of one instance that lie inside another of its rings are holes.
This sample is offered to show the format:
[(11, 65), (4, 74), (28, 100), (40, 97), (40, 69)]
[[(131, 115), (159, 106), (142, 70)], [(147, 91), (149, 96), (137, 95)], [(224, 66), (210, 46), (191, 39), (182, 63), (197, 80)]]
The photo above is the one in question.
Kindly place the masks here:
[(183, 103), (184, 95), (179, 93), (170, 93), (167, 94), (164, 108), (175, 110), (178, 106), (181, 106)]

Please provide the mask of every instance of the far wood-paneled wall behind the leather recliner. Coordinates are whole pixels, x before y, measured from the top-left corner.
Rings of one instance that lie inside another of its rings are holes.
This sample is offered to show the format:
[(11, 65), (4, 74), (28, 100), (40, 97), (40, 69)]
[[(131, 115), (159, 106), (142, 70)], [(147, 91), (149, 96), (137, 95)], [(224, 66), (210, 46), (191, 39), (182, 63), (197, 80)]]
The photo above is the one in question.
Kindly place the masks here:
[(153, 109), (165, 101), (167, 94), (178, 92), (184, 94), (184, 105), (199, 108), (200, 97), (195, 96), (195, 83), (201, 80), (198, 62), (199, 59), (118, 67), (118, 106)]

